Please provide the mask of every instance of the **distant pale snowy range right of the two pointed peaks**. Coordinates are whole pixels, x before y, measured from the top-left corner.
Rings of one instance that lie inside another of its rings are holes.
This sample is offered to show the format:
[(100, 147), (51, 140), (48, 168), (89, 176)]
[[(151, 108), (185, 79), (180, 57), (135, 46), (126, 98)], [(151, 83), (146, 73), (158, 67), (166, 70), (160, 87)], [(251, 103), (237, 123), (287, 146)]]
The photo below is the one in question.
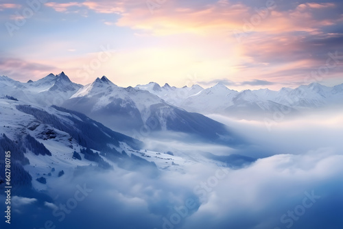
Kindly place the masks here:
[(219, 83), (211, 88), (197, 86), (197, 90), (178, 93), (184, 88), (168, 85), (172, 89), (167, 90), (165, 86), (159, 87), (158, 84), (151, 82), (147, 85), (138, 85), (137, 88), (150, 91), (189, 112), (199, 112), (203, 115), (221, 114), (239, 119), (260, 119), (272, 117), (275, 112), (296, 115), (303, 110), (342, 105), (342, 85), (328, 87), (312, 83), (294, 89), (281, 88), (280, 91), (263, 88), (238, 92)]

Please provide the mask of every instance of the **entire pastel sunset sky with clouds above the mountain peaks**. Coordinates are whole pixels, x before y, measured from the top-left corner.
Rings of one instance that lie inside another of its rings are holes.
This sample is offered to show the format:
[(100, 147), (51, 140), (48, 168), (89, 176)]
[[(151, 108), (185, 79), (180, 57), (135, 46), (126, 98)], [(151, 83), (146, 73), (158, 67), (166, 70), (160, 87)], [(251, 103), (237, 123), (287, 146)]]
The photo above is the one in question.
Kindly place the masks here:
[(0, 75), (236, 90), (343, 83), (343, 2), (0, 0)]

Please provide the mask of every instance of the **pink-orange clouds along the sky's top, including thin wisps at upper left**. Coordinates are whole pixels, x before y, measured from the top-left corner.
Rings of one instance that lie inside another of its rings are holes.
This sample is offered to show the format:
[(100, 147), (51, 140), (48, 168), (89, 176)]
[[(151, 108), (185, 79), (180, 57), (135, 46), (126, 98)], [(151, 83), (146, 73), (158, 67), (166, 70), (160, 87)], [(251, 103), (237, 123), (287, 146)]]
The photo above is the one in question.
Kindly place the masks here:
[[(123, 1), (84, 1), (83, 3), (46, 3), (56, 11), (65, 12), (71, 6), (84, 6), (97, 13), (120, 14), (115, 22), (106, 21), (106, 25), (115, 23), (121, 27), (141, 30), (138, 34), (167, 36), (171, 34), (224, 34), (233, 32), (283, 32), (302, 31), (318, 34), (320, 27), (333, 25), (339, 19), (316, 19), (311, 9), (332, 8), (334, 3), (303, 3), (293, 10), (277, 11), (277, 3), (270, 0), (266, 12), (257, 12), (243, 3), (219, 0), (203, 5), (202, 8), (189, 8), (182, 1), (163, 1), (154, 5), (135, 0)], [(267, 3), (266, 3), (267, 4)], [(342, 20), (342, 19), (341, 19)]]

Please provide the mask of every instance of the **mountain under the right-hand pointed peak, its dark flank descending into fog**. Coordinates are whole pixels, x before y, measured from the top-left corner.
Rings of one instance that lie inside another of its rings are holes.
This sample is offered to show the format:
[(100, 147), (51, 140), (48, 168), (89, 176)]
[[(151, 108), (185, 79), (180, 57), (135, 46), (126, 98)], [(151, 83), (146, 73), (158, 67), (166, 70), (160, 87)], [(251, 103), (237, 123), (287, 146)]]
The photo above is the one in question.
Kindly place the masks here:
[(221, 123), (172, 106), (148, 91), (121, 88), (106, 77), (97, 78), (92, 84), (80, 88), (62, 106), (83, 112), (113, 130), (126, 134), (149, 128), (150, 132), (193, 134), (202, 141), (232, 144), (237, 140)]

